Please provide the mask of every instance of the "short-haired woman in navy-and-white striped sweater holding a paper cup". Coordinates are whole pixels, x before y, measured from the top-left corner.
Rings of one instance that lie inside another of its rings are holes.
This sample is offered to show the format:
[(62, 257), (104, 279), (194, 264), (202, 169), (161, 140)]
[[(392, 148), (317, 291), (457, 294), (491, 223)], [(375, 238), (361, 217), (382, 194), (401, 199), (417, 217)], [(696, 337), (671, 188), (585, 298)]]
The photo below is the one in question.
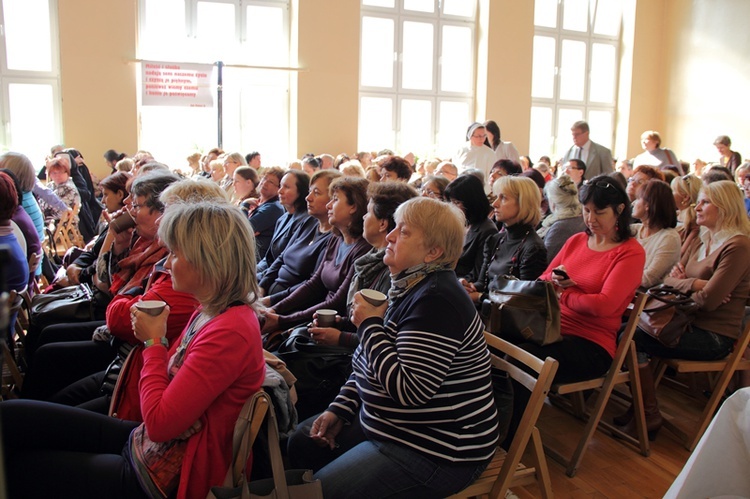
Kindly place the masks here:
[(495, 451), (483, 326), (453, 271), (464, 216), (418, 197), (398, 207), (395, 221), (384, 257), (390, 306), (355, 295), (354, 372), (289, 443), (292, 466), (313, 468), (329, 499), (449, 496), (471, 484)]

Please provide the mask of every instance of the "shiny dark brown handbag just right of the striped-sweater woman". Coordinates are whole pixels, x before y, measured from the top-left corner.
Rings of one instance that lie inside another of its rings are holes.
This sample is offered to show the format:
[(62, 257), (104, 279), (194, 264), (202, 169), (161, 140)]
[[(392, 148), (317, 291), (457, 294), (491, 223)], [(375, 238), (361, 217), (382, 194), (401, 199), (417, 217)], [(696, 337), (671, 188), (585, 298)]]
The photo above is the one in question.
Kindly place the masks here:
[(495, 279), (497, 288), (482, 304), (488, 330), (511, 343), (549, 345), (560, 336), (560, 303), (549, 281), (521, 281), (513, 276)]

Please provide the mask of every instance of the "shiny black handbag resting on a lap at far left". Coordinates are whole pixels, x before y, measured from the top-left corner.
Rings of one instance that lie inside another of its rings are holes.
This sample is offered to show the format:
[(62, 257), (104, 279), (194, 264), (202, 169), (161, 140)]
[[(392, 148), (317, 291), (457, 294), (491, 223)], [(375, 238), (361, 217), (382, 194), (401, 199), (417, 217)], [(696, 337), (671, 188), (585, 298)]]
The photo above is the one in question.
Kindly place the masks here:
[[(43, 319), (42, 319), (43, 318)], [(94, 293), (88, 284), (67, 286), (31, 299), (31, 321), (84, 322), (95, 320)]]

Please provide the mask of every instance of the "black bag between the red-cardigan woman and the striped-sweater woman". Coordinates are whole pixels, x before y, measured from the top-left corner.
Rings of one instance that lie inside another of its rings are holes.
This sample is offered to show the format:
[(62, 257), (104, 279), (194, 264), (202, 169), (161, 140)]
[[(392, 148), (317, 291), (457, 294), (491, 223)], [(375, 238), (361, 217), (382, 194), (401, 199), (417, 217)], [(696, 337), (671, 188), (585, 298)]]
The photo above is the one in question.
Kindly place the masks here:
[(316, 344), (307, 326), (296, 328), (275, 353), (297, 378), (300, 421), (324, 411), (352, 373), (352, 349)]

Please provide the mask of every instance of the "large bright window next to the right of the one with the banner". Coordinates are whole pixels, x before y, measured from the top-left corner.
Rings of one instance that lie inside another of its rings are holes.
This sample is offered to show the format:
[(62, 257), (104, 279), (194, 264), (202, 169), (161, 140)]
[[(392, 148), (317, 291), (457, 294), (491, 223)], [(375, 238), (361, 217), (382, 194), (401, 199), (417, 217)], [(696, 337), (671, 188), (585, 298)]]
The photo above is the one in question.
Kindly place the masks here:
[(360, 150), (449, 156), (472, 121), (474, 0), (362, 0)]

